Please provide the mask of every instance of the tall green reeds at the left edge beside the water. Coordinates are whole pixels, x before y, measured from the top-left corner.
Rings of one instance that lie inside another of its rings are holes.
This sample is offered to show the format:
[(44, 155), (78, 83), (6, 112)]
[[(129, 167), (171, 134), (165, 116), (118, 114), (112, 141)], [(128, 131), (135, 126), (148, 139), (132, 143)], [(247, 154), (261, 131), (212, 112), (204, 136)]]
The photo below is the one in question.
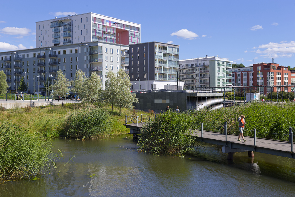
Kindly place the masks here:
[(37, 133), (9, 122), (0, 125), (0, 183), (37, 177), (48, 167), (51, 145)]

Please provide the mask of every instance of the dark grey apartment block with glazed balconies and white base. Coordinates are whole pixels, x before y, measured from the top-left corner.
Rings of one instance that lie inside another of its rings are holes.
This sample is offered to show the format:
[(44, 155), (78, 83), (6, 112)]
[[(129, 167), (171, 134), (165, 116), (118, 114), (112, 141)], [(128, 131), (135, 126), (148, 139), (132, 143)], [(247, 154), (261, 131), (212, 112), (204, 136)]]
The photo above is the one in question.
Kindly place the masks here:
[(129, 55), (131, 89), (183, 88), (183, 82), (178, 81), (178, 45), (161, 42), (131, 44)]

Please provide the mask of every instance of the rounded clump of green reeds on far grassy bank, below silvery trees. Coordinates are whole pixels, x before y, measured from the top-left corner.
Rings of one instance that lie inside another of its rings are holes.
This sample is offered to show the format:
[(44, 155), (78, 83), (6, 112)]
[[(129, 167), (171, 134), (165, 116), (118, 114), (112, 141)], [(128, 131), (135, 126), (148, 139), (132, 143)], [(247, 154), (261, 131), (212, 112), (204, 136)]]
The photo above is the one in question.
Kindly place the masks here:
[(111, 134), (109, 114), (93, 105), (76, 109), (65, 120), (61, 134), (76, 139), (108, 137)]

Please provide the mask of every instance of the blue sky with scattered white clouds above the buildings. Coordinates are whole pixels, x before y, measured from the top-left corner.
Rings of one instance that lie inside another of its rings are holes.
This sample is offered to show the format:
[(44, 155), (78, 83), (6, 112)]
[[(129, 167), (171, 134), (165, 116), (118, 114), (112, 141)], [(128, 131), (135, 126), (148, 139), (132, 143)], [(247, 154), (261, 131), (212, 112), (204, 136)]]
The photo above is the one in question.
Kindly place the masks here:
[(180, 59), (295, 67), (295, 1), (24, 1), (1, 9), (0, 51), (35, 48), (35, 22), (94, 12), (141, 24), (141, 42), (180, 46)]

